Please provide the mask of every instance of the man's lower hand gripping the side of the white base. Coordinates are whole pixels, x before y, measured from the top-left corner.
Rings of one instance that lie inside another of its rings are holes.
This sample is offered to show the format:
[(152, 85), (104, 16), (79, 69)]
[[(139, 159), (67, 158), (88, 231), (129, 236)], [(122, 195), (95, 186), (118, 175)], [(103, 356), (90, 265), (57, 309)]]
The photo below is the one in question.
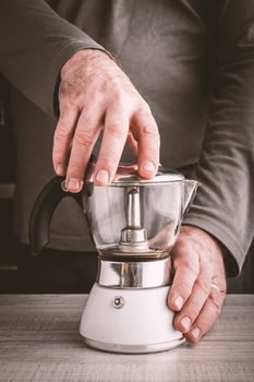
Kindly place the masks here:
[(196, 343), (211, 327), (225, 300), (222, 250), (204, 230), (183, 226), (171, 255), (176, 273), (168, 305), (178, 311), (176, 329)]

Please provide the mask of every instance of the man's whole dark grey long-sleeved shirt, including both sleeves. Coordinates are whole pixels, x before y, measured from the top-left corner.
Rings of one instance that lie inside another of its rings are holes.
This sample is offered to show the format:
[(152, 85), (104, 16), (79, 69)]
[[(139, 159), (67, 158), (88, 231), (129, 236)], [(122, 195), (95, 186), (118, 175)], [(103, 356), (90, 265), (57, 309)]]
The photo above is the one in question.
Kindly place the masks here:
[[(152, 108), (161, 163), (203, 184), (184, 223), (223, 243), (228, 274), (235, 275), (254, 231), (254, 2), (16, 0), (0, 10), (0, 70), (15, 86), (21, 240), (53, 176), (60, 69), (80, 49), (106, 49)], [(71, 201), (55, 216), (51, 246), (90, 249)]]

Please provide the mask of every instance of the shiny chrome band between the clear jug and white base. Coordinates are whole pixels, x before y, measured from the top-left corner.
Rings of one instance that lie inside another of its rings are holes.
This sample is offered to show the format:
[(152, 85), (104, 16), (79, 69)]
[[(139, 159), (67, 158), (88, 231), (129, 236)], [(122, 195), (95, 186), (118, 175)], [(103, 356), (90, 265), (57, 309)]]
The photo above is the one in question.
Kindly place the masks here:
[(171, 259), (124, 262), (98, 259), (96, 282), (113, 288), (155, 288), (170, 284)]

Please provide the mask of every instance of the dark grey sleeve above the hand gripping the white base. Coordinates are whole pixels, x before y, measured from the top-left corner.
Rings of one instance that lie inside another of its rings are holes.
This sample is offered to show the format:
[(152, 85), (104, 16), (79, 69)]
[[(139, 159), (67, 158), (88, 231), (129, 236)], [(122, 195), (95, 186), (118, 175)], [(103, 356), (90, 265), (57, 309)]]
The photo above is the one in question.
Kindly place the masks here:
[(227, 274), (235, 276), (254, 232), (254, 2), (214, 4), (210, 105), (195, 174), (203, 186), (184, 223), (225, 244)]

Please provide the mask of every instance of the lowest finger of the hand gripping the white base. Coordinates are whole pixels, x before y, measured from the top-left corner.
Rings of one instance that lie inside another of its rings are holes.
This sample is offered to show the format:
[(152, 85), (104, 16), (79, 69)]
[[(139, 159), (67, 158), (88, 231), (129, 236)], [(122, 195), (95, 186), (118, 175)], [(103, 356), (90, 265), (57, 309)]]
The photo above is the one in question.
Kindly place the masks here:
[(196, 343), (207, 333), (221, 312), (226, 293), (218, 291), (215, 288), (210, 290), (210, 295), (206, 300), (202, 311), (185, 337), (191, 343)]

